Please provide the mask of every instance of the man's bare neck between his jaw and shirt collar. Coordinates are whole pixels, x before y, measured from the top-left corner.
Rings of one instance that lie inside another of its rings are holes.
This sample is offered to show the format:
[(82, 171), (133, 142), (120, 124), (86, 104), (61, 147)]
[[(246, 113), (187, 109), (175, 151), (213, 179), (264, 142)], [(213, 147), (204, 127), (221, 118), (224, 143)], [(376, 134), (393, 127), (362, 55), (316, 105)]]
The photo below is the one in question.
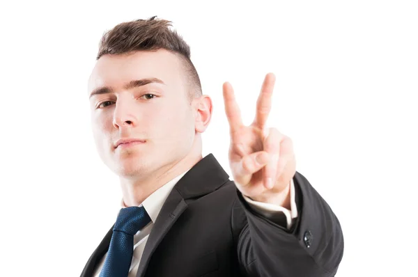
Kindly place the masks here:
[(130, 178), (121, 180), (123, 203), (127, 207), (138, 206), (148, 198), (154, 191), (160, 189), (164, 184), (173, 180), (176, 176), (192, 168), (202, 159), (202, 155), (197, 157), (185, 157), (165, 168), (158, 168), (148, 174), (142, 174), (141, 178)]

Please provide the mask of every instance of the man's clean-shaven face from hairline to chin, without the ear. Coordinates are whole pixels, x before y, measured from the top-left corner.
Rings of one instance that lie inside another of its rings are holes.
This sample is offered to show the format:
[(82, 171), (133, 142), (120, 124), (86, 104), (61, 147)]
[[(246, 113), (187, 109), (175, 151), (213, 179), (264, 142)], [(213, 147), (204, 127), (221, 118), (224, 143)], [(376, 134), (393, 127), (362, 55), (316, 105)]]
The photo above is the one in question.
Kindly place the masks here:
[[(184, 74), (180, 58), (165, 50), (97, 61), (88, 81), (88, 93), (97, 93), (90, 98), (93, 136), (117, 175), (169, 168), (192, 149), (195, 115)], [(140, 142), (116, 147), (119, 139)]]

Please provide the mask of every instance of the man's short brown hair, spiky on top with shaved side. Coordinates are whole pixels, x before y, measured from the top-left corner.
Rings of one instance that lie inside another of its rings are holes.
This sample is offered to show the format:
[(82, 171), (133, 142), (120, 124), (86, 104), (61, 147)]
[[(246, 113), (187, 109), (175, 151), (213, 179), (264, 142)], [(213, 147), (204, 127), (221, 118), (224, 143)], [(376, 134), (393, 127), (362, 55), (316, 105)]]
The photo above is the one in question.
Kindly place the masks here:
[(164, 19), (138, 19), (123, 22), (114, 26), (102, 36), (96, 59), (106, 54), (129, 54), (135, 51), (157, 51), (166, 49), (176, 54), (182, 61), (187, 74), (188, 96), (191, 102), (194, 97), (202, 95), (201, 81), (196, 68), (190, 60), (190, 47), (175, 30), (169, 29), (170, 21)]

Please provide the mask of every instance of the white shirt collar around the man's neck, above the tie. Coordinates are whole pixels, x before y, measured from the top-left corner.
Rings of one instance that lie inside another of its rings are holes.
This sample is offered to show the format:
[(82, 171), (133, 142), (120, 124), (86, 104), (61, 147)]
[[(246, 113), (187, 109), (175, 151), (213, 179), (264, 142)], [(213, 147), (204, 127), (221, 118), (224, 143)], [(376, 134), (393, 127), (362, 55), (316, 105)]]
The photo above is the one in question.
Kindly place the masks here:
[[(189, 169), (187, 170), (189, 171)], [(163, 184), (160, 189), (157, 189), (153, 193), (144, 200), (144, 202), (139, 205), (139, 207), (144, 206), (146, 212), (150, 216), (151, 221), (155, 223), (157, 220), (158, 214), (160, 214), (160, 210), (162, 208), (162, 205), (164, 205), (165, 200), (167, 197), (169, 197), (169, 194), (173, 187), (177, 184), (177, 182), (187, 173), (187, 171), (181, 173), (180, 175), (177, 175), (173, 179), (171, 179), (166, 184)], [(127, 207), (125, 203), (123, 203), (123, 199), (121, 200), (121, 207), (125, 208)]]

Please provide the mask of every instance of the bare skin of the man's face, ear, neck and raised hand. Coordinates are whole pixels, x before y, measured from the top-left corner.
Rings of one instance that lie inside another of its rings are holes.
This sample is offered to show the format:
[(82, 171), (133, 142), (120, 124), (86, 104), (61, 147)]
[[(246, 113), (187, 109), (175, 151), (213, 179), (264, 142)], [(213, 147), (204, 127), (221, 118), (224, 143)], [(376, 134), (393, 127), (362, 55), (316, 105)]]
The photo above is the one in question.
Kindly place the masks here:
[[(146, 79), (148, 84), (127, 86)], [(265, 128), (273, 87), (274, 75), (268, 74), (256, 119), (244, 126), (233, 88), (224, 84), (231, 127), (229, 161), (235, 184), (245, 196), (290, 209), (293, 146), (277, 129)], [(104, 55), (96, 62), (88, 80), (93, 137), (100, 158), (120, 178), (127, 207), (140, 205), (202, 159), (201, 134), (210, 123), (212, 100), (202, 95), (190, 103), (191, 89), (180, 58), (164, 49)], [(142, 143), (114, 147), (118, 139), (132, 138)]]

